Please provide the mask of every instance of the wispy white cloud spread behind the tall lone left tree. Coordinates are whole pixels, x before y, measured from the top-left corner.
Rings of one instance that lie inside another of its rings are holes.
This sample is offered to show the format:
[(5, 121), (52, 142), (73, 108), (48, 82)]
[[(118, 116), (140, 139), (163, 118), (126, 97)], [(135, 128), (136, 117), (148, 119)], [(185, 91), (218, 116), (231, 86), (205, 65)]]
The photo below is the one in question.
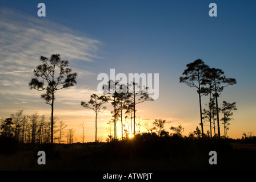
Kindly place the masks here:
[[(100, 41), (49, 19), (40, 19), (6, 7), (0, 8), (0, 17), (0, 100), (3, 108), (30, 108), (43, 104), (40, 96), (43, 92), (30, 90), (28, 85), (33, 70), (40, 64), (41, 55), (50, 57), (59, 53), (61, 59), (69, 60), (73, 72), (78, 73), (79, 83), (88, 80), (89, 76), (95, 77), (95, 73), (81, 63), (101, 58), (98, 56), (98, 47), (102, 45)], [(56, 94), (57, 103), (79, 106), (93, 92), (88, 85), (87, 88), (79, 85), (61, 90)]]

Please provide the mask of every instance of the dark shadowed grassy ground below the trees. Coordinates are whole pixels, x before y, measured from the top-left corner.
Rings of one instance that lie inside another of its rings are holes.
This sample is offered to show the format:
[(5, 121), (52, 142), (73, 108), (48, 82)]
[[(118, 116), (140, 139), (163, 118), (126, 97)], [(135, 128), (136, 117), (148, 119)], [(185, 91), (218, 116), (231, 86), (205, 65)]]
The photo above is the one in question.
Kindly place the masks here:
[[(9, 146), (10, 147), (10, 146)], [(11, 146), (13, 147), (13, 146)], [(12, 148), (13, 149), (13, 148)], [(0, 170), (255, 170), (256, 144), (230, 139), (189, 139), (144, 136), (122, 142), (18, 145), (0, 153)], [(46, 152), (39, 165), (38, 151)], [(210, 151), (217, 152), (217, 165), (210, 165)]]

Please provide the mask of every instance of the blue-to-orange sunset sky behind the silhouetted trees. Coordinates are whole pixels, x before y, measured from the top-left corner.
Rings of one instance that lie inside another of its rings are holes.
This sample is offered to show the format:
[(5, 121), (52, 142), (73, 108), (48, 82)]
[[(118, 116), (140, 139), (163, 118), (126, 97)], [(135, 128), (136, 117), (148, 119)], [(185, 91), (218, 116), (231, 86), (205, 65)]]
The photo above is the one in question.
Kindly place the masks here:
[[(212, 2), (217, 5), (213, 17), (209, 16)], [(38, 3), (45, 3), (46, 16), (38, 16)], [(76, 142), (81, 142), (80, 123), (85, 125), (86, 142), (95, 139), (93, 110), (80, 104), (97, 94), (97, 76), (110, 75), (110, 69), (126, 75), (158, 73), (159, 97), (139, 104), (137, 118), (148, 125), (162, 118), (170, 133), (170, 126), (182, 125), (188, 135), (200, 122), (198, 94), (179, 83), (179, 77), (186, 64), (202, 59), (237, 80), (219, 97), (219, 106), (224, 100), (237, 104), (229, 137), (255, 135), (255, 6), (248, 0), (0, 1), (0, 118), (20, 109), (50, 117), (42, 92), (30, 90), (28, 83), (40, 56), (59, 53), (78, 78), (73, 88), (57, 92), (54, 114), (67, 124), (66, 129), (74, 129)], [(207, 101), (202, 97), (203, 108)], [(113, 110), (106, 106), (97, 118), (102, 141)]]

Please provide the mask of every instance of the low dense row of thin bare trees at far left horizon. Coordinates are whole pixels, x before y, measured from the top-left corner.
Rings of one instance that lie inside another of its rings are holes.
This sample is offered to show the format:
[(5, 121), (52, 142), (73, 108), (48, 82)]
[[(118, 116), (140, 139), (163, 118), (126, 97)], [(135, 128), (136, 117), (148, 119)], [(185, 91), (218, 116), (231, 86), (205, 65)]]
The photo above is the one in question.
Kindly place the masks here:
[[(67, 125), (58, 117), (54, 117), (53, 122), (55, 143), (73, 143), (74, 130), (64, 130)], [(1, 119), (0, 131), (2, 137), (14, 138), (21, 143), (51, 143), (51, 117), (37, 113), (26, 115), (23, 110), (18, 110), (10, 118)]]

